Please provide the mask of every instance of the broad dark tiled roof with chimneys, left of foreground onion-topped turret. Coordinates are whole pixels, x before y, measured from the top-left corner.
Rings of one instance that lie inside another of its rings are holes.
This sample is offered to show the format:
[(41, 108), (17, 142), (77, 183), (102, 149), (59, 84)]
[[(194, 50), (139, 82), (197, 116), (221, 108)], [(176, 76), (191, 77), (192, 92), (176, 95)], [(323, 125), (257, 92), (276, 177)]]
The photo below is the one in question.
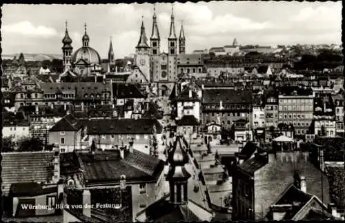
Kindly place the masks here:
[(163, 171), (164, 162), (146, 153), (126, 151), (125, 159), (121, 159), (116, 152), (78, 153), (88, 184), (119, 182), (121, 175), (126, 175), (127, 181), (157, 180)]

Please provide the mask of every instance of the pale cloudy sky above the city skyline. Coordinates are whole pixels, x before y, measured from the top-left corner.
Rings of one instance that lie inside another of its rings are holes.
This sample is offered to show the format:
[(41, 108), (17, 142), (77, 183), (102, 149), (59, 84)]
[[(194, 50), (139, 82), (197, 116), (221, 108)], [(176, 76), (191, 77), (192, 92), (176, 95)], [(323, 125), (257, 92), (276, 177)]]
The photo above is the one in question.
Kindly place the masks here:
[[(106, 58), (110, 36), (115, 57), (135, 52), (141, 16), (146, 35), (152, 30), (152, 4), (108, 5), (4, 5), (2, 7), (3, 54), (61, 53), (65, 21), (72, 46), (81, 46), (83, 23), (88, 24), (90, 46)], [(162, 50), (170, 27), (170, 3), (156, 6)], [(186, 50), (231, 44), (341, 44), (342, 1), (211, 1), (175, 3), (177, 34), (184, 20)]]

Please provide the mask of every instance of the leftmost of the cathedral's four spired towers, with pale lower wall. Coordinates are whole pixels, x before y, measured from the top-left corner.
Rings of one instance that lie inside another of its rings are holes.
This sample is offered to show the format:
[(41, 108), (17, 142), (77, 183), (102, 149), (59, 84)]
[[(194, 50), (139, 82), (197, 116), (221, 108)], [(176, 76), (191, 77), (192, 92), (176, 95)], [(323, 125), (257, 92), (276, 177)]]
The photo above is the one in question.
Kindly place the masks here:
[(148, 81), (150, 81), (150, 46), (148, 46), (144, 20), (141, 22), (140, 37), (135, 53), (135, 65), (139, 67)]

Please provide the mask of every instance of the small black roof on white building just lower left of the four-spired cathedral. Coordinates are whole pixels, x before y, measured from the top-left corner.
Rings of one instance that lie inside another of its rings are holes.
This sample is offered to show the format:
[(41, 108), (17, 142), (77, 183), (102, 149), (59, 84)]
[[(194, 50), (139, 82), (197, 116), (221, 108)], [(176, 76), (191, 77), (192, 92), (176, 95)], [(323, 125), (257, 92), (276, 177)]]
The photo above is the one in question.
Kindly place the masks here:
[(112, 84), (112, 95), (115, 98), (145, 98), (135, 84)]

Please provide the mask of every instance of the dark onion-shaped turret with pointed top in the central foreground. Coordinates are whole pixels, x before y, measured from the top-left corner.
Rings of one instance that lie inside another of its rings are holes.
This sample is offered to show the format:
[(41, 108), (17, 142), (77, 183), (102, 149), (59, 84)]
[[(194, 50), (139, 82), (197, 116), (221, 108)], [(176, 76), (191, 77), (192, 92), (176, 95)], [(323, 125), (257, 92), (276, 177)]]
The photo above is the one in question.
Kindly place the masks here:
[(188, 163), (188, 154), (183, 137), (177, 135), (176, 140), (168, 152), (168, 162), (170, 169), (166, 175), (166, 180), (170, 186), (170, 202), (175, 205), (188, 203), (188, 179), (190, 173), (185, 168)]

